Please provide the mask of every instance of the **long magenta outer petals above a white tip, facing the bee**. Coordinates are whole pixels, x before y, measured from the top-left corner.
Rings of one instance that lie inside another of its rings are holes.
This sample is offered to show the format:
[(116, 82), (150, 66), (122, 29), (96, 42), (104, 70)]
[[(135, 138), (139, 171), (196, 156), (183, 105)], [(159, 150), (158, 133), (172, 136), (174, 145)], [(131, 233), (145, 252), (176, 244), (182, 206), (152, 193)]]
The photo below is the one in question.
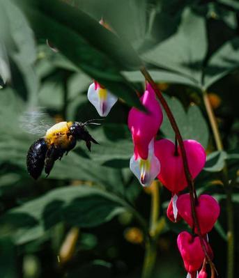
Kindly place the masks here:
[(155, 137), (162, 124), (162, 109), (160, 103), (155, 98), (155, 92), (150, 84), (140, 98), (141, 103), (148, 110), (148, 114), (136, 108), (130, 110), (128, 116), (128, 126), (134, 141), (134, 155), (139, 155), (146, 160), (148, 157), (148, 145)]

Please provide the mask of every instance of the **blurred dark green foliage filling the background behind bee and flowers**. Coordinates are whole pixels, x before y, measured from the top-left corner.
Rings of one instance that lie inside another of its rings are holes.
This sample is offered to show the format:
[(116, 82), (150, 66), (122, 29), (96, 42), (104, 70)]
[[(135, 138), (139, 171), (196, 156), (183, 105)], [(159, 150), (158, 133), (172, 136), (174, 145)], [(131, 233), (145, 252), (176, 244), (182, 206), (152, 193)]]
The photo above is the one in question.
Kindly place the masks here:
[[(167, 98), (183, 138), (207, 150), (196, 188), (221, 204), (210, 242), (219, 277), (226, 277), (225, 162), (235, 184), (239, 259), (238, 11), (233, 0), (0, 1), (1, 277), (140, 276), (151, 188), (143, 190), (130, 172), (127, 118), (132, 105), (141, 108), (134, 92), (144, 91), (141, 63)], [(101, 17), (116, 36), (97, 24)], [(100, 145), (89, 153), (77, 144), (47, 179), (34, 181), (26, 153), (47, 126), (98, 118), (86, 97), (93, 79), (120, 98), (102, 126), (90, 128)], [(203, 91), (217, 117), (222, 152)], [(174, 140), (166, 116), (158, 137)], [(154, 277), (185, 277), (176, 235), (187, 227), (164, 219), (169, 199), (160, 187), (164, 229)]]

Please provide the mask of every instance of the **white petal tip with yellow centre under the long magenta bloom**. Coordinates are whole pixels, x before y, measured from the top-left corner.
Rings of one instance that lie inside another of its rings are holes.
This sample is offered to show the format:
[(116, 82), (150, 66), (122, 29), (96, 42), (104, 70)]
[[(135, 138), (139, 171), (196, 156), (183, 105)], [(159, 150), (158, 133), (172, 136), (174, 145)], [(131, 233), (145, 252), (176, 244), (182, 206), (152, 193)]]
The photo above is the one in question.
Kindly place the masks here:
[(153, 180), (160, 173), (160, 162), (154, 154), (153, 140), (148, 146), (148, 157), (146, 160), (139, 156), (135, 158), (134, 155), (130, 158), (130, 170), (138, 178), (142, 186), (147, 187), (151, 185)]

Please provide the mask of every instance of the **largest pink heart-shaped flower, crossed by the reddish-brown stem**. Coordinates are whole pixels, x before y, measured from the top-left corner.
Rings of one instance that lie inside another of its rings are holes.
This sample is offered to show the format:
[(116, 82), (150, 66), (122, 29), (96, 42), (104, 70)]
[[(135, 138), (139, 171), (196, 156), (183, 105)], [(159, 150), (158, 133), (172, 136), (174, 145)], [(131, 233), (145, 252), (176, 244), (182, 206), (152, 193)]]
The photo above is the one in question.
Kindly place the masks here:
[[(203, 169), (206, 162), (206, 153), (197, 141), (183, 141), (187, 155), (187, 162), (192, 178)], [(176, 149), (174, 143), (168, 139), (155, 141), (155, 155), (160, 160), (161, 171), (157, 178), (168, 190), (177, 194), (187, 187), (183, 159), (180, 147)]]

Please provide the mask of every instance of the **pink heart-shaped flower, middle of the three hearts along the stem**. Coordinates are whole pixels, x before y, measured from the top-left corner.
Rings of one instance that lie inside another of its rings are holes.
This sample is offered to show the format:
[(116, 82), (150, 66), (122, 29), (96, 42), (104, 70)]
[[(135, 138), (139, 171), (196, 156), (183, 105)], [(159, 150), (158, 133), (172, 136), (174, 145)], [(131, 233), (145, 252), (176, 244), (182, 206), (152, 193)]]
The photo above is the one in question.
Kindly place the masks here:
[[(192, 228), (194, 223), (192, 218), (190, 194), (182, 194), (178, 196), (177, 208), (178, 213)], [(219, 204), (212, 196), (207, 194), (199, 196), (198, 203), (196, 204), (196, 215), (199, 219), (199, 226), (202, 235), (206, 235), (206, 233), (213, 229), (213, 226), (219, 217), (219, 213)], [(198, 233), (196, 229), (195, 233)]]

